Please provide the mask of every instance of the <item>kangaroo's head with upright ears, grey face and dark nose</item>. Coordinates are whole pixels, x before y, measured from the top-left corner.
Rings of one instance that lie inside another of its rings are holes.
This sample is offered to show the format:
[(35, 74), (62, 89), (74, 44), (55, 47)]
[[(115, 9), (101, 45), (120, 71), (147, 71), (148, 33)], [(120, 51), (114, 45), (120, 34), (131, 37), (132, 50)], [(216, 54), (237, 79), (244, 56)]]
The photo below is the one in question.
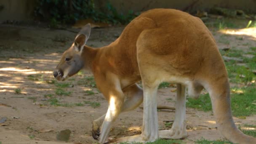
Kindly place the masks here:
[(71, 47), (62, 54), (61, 60), (59, 61), (56, 70), (53, 72), (53, 76), (57, 80), (65, 80), (66, 78), (75, 75), (84, 67), (84, 59), (81, 54), (85, 43), (90, 36), (90, 32), (91, 25), (85, 25), (75, 37)]

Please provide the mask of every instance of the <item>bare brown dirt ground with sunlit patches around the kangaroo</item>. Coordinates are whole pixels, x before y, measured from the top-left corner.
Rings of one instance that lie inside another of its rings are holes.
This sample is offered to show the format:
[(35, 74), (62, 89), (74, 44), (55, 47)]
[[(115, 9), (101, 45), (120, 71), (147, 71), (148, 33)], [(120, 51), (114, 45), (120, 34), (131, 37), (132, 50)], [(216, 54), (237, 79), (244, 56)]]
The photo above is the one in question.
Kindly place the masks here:
[[(124, 27), (92, 29), (88, 45), (101, 47), (114, 41)], [(73, 32), (74, 31), (74, 32)], [(100, 107), (55, 107), (47, 102), (45, 94), (54, 94), (56, 86), (46, 83), (53, 80), (53, 70), (61, 53), (72, 43), (78, 30), (52, 30), (42, 27), (24, 27), (0, 25), (0, 141), (2, 144), (59, 144), (59, 131), (71, 131), (69, 143), (97, 143), (91, 136), (91, 122), (107, 112), (104, 96), (92, 88), (94, 95), (86, 95), (85, 85), (77, 81), (90, 75), (83, 72), (67, 80), (73, 87), (64, 88), (72, 91), (70, 96), (56, 96), (63, 103), (97, 101)], [(256, 28), (218, 31), (211, 29), (219, 48), (240, 48), (246, 50), (256, 45)], [(242, 38), (243, 40), (238, 40)], [(229, 43), (227, 43), (229, 41)], [(37, 80), (28, 76), (35, 75)], [(21, 89), (16, 94), (15, 89)], [(175, 88), (161, 88), (158, 92), (158, 104), (175, 106)], [(29, 99), (35, 97), (35, 101)], [(168, 100), (167, 100), (168, 99)], [(187, 108), (187, 144), (202, 137), (208, 140), (224, 139), (216, 129), (212, 112), (202, 112)], [(114, 123), (112, 138), (131, 136), (141, 132), (143, 111), (140, 108), (125, 112)], [(160, 129), (165, 129), (164, 120), (174, 120), (174, 112), (158, 112)], [(238, 124), (255, 124), (256, 115), (238, 119)], [(42, 129), (52, 130), (40, 132)]]

